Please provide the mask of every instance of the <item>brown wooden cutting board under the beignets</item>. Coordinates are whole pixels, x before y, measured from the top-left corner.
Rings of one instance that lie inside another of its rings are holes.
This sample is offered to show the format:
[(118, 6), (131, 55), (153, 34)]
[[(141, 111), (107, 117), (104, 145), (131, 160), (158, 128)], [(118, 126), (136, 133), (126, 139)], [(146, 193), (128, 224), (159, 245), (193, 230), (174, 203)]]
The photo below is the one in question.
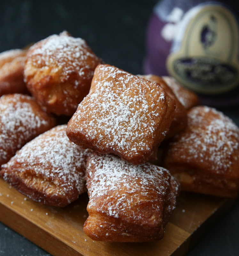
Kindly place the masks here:
[(105, 243), (84, 234), (87, 194), (65, 208), (48, 207), (28, 199), (0, 179), (0, 221), (55, 256), (181, 256), (234, 202), (181, 193), (163, 240)]

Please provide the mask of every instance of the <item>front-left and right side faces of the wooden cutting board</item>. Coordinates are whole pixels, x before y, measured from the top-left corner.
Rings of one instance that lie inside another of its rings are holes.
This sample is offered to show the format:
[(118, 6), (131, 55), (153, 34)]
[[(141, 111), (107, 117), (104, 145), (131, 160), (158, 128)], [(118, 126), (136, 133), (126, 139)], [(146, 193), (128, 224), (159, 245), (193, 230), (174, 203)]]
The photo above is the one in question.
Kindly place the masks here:
[[(174, 252), (172, 252), (171, 256), (185, 255), (202, 238), (202, 236), (209, 231), (209, 228), (213, 226), (219, 220), (219, 218), (222, 217), (222, 215), (234, 205), (235, 201), (236, 198), (223, 200), (215, 211), (213, 211), (211, 215), (205, 221), (203, 221), (192, 234), (188, 233), (189, 236), (187, 239), (180, 244)], [(85, 255), (83, 252), (78, 250), (76, 251), (76, 248), (72, 247), (70, 244), (67, 244), (58, 237), (54, 236), (54, 233), (37, 226), (36, 222), (28, 220), (27, 216), (14, 211), (14, 209), (3, 204), (1, 201), (0, 208), (0, 221), (52, 255)], [(32, 232), (32, 230), (34, 230), (34, 232)], [(184, 230), (184, 232), (187, 231)]]

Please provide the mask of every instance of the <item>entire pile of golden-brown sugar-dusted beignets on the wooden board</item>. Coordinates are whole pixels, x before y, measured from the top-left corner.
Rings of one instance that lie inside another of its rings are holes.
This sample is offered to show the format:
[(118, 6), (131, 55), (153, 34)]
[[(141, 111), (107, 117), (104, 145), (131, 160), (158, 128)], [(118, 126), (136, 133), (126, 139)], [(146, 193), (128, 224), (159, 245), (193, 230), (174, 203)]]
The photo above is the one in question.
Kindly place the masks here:
[[(84, 231), (106, 242), (162, 239), (180, 186), (238, 194), (239, 129), (231, 119), (195, 107), (198, 96), (172, 77), (135, 76), (102, 63), (65, 31), (27, 52), (0, 54), (0, 95), (22, 90), (24, 81), (32, 94), (0, 98), (5, 181), (58, 207), (88, 190)], [(48, 113), (71, 119), (54, 127)], [(148, 162), (160, 145), (163, 167)]]

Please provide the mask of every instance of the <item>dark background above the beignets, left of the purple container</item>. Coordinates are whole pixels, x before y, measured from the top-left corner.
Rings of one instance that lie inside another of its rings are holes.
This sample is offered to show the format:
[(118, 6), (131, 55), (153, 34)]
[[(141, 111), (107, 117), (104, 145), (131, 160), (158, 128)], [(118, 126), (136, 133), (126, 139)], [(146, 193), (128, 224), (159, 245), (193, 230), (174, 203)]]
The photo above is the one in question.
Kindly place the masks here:
[(1, 4), (1, 52), (67, 30), (106, 63), (142, 73), (145, 31), (156, 1), (10, 2)]

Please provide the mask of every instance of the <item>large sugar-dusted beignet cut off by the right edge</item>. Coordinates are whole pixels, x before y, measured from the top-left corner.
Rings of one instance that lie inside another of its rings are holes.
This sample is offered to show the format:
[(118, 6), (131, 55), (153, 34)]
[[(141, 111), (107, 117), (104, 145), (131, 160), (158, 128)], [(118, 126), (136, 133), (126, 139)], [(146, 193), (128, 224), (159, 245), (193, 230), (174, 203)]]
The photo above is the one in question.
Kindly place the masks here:
[(164, 149), (163, 167), (182, 190), (233, 197), (239, 190), (239, 129), (215, 108), (193, 107), (185, 131)]

